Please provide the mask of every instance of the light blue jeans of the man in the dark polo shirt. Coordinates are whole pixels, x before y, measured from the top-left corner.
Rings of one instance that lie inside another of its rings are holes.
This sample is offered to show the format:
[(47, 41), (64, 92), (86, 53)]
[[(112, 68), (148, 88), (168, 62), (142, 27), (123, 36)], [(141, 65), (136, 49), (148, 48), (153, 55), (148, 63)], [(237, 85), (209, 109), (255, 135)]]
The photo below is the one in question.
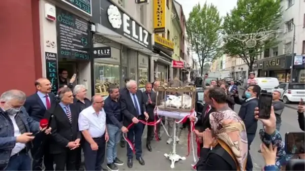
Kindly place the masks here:
[(107, 142), (107, 164), (113, 163), (116, 158), (117, 145), (120, 141), (120, 129), (112, 124), (107, 124), (109, 141)]

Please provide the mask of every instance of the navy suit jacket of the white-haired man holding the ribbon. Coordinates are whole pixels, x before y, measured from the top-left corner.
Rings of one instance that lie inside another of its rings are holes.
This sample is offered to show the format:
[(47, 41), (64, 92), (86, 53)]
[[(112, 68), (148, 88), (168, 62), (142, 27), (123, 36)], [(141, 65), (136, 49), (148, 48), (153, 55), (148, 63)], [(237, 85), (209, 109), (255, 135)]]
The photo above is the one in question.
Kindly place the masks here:
[(143, 94), (141, 90), (137, 90), (136, 95), (139, 101), (139, 108), (141, 110), (140, 116), (138, 116), (136, 112), (136, 108), (133, 104), (130, 93), (127, 89), (121, 91), (119, 102), (121, 106), (121, 112), (123, 113), (123, 124), (124, 126), (128, 126), (132, 122), (132, 118), (136, 117), (138, 119), (145, 119), (144, 112), (146, 111), (145, 100), (143, 98)]

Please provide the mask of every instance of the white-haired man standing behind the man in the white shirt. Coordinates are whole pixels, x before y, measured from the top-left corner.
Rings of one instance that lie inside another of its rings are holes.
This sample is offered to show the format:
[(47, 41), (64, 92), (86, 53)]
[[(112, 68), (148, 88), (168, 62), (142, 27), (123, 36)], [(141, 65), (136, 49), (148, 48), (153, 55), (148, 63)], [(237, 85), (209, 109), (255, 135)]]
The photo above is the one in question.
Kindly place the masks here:
[[(87, 88), (82, 84), (78, 84), (73, 89), (73, 104), (76, 106), (77, 114), (79, 114), (82, 110), (91, 106), (91, 101), (86, 97)], [(83, 144), (84, 139), (81, 139), (80, 144)], [(77, 171), (83, 171), (84, 169), (81, 167), (81, 148), (76, 149), (76, 162), (75, 167)]]

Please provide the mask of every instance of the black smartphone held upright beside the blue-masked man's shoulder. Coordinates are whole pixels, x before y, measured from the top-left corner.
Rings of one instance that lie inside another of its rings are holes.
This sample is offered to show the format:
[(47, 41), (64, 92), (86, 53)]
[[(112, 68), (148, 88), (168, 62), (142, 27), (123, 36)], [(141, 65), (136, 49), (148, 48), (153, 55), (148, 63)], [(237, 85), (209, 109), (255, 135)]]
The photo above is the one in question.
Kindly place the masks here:
[(258, 101), (259, 114), (262, 119), (269, 119), (272, 106), (272, 94), (261, 93)]

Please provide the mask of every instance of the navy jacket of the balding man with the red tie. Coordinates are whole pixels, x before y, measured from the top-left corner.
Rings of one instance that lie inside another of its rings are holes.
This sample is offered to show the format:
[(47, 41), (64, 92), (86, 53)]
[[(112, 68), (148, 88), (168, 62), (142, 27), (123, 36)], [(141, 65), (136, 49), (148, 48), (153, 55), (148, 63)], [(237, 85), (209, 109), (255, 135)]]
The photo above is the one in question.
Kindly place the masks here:
[[(49, 93), (48, 95), (50, 97), (52, 107), (55, 103), (55, 95), (53, 93)], [(37, 92), (26, 98), (24, 108), (28, 115), (38, 122), (44, 118), (45, 112), (47, 110)]]

